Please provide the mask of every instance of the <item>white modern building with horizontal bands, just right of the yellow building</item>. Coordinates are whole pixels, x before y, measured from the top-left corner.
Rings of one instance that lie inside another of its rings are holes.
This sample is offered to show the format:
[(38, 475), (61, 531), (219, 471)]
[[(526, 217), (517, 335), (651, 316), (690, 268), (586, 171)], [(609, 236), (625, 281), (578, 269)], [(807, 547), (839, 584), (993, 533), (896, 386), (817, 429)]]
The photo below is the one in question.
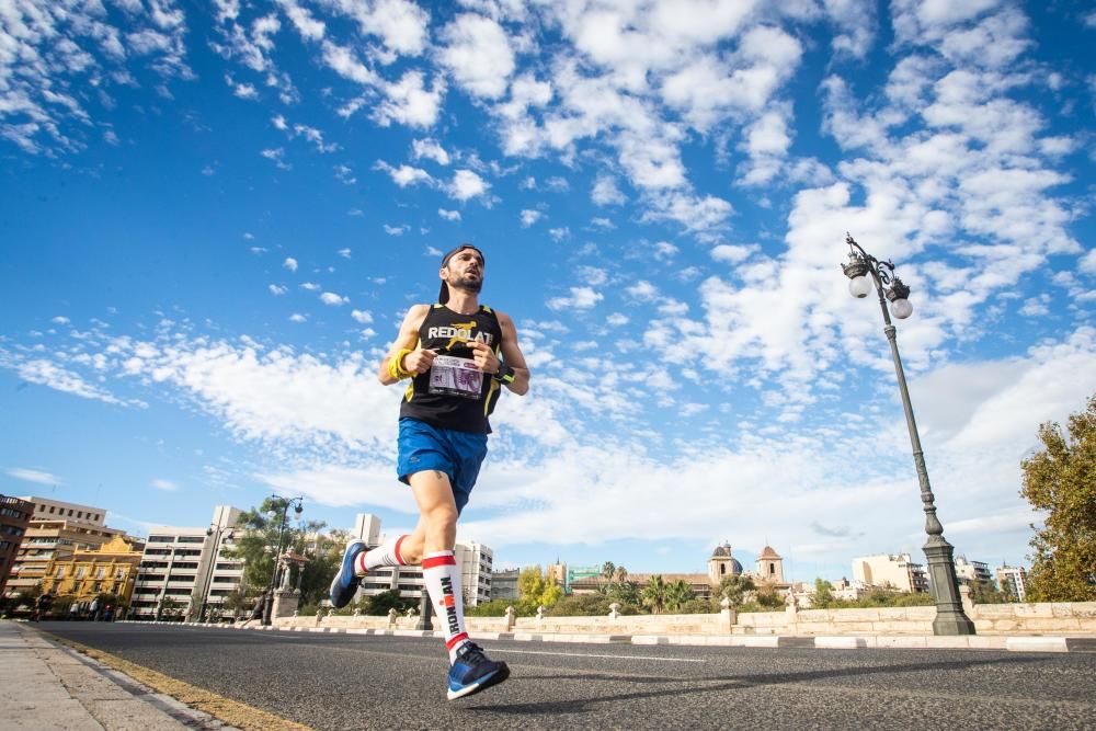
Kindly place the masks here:
[(227, 556), (239, 509), (217, 505), (204, 527), (149, 529), (130, 602), (136, 619), (219, 616), (243, 579), (243, 561)]

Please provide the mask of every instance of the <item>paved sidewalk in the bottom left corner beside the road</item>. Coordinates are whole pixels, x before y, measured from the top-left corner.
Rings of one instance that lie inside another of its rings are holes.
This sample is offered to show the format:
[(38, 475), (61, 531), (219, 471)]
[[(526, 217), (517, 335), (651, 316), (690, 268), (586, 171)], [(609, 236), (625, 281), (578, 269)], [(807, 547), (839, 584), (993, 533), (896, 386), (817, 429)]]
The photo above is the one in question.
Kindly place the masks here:
[(0, 726), (5, 730), (229, 729), (31, 627), (0, 620)]

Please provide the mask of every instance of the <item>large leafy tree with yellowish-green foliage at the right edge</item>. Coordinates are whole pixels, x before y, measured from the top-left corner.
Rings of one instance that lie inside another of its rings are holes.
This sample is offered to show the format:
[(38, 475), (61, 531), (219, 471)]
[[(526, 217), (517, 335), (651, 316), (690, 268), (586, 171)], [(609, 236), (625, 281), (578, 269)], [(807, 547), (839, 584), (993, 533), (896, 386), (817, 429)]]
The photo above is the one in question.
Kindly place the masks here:
[(1069, 434), (1047, 422), (1043, 448), (1020, 462), (1020, 494), (1044, 513), (1031, 539), (1028, 593), (1034, 602), (1096, 601), (1096, 396), (1070, 415)]

